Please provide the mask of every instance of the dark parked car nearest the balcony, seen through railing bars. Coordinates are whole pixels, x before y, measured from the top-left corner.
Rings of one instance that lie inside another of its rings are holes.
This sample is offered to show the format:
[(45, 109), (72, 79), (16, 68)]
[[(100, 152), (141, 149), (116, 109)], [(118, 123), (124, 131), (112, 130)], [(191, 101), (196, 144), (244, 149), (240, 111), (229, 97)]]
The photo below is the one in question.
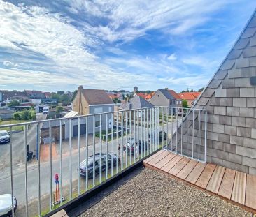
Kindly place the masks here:
[[(108, 168), (111, 167), (111, 159), (112, 159), (112, 154), (108, 153), (108, 154), (101, 154), (101, 172), (106, 170), (106, 155), (108, 158)], [(117, 163), (117, 155), (113, 154), (113, 166), (116, 165)], [(87, 165), (87, 160), (83, 160), (80, 163), (80, 168), (79, 171), (80, 175), (83, 177), (86, 177), (86, 168), (88, 169), (88, 178), (92, 179), (93, 177), (93, 162), (94, 162), (94, 157), (93, 155), (91, 155), (90, 157), (88, 157), (88, 165)], [(100, 171), (100, 153), (95, 154), (95, 175), (99, 174)]]

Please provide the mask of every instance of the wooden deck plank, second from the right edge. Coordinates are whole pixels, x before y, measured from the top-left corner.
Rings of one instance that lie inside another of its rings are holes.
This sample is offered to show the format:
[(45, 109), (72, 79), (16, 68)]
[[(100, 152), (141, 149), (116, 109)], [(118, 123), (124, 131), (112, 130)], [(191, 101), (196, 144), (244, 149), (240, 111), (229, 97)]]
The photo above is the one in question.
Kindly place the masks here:
[(246, 173), (236, 171), (231, 200), (245, 204), (246, 200)]

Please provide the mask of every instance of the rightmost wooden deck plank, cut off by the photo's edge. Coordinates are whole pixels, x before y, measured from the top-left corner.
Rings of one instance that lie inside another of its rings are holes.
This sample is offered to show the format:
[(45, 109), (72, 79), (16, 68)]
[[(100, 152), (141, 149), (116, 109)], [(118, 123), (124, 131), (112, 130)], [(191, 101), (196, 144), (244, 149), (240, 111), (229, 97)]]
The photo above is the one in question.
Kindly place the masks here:
[(246, 206), (256, 209), (256, 176), (247, 174)]

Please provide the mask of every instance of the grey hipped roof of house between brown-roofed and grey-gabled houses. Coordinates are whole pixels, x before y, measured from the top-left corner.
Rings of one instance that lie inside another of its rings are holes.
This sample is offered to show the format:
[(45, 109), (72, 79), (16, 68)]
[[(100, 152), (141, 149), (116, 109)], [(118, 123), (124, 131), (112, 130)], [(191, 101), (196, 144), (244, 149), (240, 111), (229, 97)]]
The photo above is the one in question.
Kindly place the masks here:
[(133, 109), (141, 109), (145, 107), (154, 107), (151, 103), (147, 100), (142, 98), (141, 96), (134, 96), (129, 100), (129, 102), (122, 103), (120, 105), (120, 110), (133, 110)]

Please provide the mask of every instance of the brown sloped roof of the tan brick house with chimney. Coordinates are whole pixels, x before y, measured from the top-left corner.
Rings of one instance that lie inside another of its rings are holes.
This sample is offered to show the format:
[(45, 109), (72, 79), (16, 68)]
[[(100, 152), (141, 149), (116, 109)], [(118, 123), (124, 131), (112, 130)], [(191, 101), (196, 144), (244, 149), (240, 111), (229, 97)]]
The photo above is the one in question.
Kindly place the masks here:
[(83, 96), (89, 105), (113, 104), (113, 100), (104, 90), (84, 89)]

